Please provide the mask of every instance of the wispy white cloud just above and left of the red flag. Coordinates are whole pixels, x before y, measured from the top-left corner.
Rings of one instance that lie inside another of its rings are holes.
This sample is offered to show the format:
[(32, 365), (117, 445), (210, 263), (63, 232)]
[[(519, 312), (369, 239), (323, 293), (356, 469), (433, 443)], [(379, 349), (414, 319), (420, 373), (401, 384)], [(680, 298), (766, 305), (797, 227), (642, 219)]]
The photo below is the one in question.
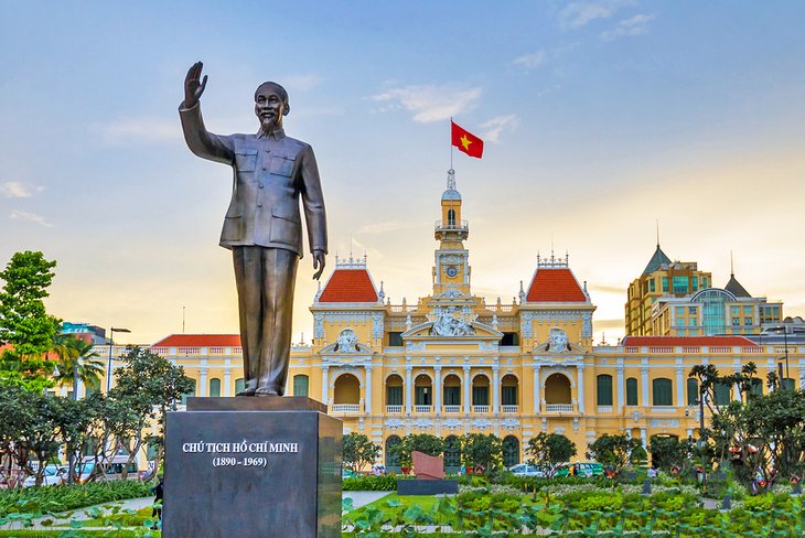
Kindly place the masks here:
[(414, 121), (430, 123), (448, 119), (475, 107), (481, 88), (460, 88), (454, 85), (411, 85), (390, 88), (372, 96), (377, 103), (388, 106), (378, 111), (405, 109), (414, 112)]

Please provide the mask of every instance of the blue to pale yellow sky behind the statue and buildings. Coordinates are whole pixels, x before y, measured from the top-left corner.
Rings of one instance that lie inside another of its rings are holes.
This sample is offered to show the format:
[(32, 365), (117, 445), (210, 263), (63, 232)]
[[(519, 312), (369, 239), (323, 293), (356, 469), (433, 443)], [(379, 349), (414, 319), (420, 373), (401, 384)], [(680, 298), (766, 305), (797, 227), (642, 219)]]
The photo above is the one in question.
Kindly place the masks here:
[[(255, 132), (285, 85), (314, 148), (330, 255), (366, 254), (399, 304), (431, 290), (450, 117), (473, 291), (511, 303), (537, 254), (588, 282), (594, 340), (623, 335), (657, 229), (673, 260), (805, 314), (805, 2), (0, 0), (0, 263), (57, 261), (46, 301), (120, 343), (237, 333), (218, 246), (232, 172), (176, 108), (196, 61), (206, 127)], [(307, 247), (305, 247), (307, 248)], [(294, 336), (312, 335), (312, 257)]]

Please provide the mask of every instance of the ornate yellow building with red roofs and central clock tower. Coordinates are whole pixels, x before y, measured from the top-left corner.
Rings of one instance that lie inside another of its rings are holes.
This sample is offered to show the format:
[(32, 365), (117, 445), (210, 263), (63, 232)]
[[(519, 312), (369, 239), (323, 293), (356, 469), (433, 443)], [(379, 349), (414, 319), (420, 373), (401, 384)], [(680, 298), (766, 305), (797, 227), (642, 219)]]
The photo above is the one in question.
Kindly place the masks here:
[[(515, 302), (487, 304), (472, 291), (461, 202), (451, 173), (433, 228), (431, 294), (391, 304), (365, 257), (336, 258), (310, 306), (312, 345), (292, 348), (286, 394), (325, 402), (345, 433), (382, 446), (378, 463), (394, 469), (388, 448), (408, 433), (446, 438), (448, 466), (460, 464), (455, 440), (470, 432), (504, 439), (509, 465), (527, 458), (539, 432), (568, 437), (581, 460), (604, 433), (644, 445), (652, 435), (696, 438), (698, 387), (688, 374), (699, 364), (729, 374), (752, 361), (764, 377), (785, 354), (788, 383), (802, 386), (801, 337), (784, 349), (743, 335), (627, 336), (594, 346), (595, 306), (567, 257), (538, 256)], [(688, 272), (709, 287), (709, 273)], [(185, 368), (196, 396), (230, 397), (243, 386), (237, 335), (172, 335), (152, 349)]]

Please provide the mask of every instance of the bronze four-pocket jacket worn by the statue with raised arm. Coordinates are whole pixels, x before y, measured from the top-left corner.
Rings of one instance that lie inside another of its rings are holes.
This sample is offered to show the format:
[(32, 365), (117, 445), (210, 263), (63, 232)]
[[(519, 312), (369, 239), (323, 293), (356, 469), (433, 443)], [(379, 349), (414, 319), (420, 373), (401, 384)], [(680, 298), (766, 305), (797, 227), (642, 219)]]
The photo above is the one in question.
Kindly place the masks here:
[(232, 202), (221, 246), (261, 246), (292, 250), (302, 257), (302, 198), (310, 250), (328, 251), (319, 168), (310, 144), (285, 136), (208, 132), (201, 106), (179, 108), (184, 139), (196, 155), (233, 166)]

